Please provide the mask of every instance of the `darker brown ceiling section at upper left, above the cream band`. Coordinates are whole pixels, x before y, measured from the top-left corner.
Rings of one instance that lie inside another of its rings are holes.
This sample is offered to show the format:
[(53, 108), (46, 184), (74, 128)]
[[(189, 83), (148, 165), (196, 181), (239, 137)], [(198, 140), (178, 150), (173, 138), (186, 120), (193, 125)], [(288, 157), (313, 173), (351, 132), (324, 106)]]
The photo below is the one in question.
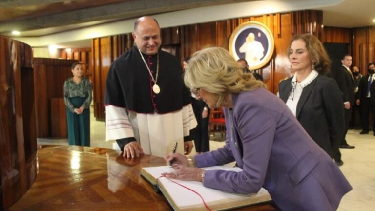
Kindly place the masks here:
[(43, 36), (98, 21), (245, 1), (254, 0), (0, 0), (0, 34), (18, 30), (22, 36)]

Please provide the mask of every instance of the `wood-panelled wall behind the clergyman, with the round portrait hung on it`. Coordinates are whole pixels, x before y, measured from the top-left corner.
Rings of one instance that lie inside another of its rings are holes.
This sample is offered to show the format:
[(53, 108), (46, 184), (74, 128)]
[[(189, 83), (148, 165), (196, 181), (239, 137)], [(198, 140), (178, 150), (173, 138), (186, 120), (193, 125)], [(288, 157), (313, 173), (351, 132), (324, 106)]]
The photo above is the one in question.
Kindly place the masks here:
[[(287, 49), (291, 38), (294, 35), (311, 33), (322, 39), (322, 19), (322, 11), (306, 10), (163, 28), (162, 46), (173, 45), (180, 48), (178, 52), (181, 52), (181, 60), (208, 46), (228, 49), (230, 35), (239, 24), (246, 21), (262, 22), (273, 33), (275, 50), (271, 61), (258, 71), (262, 73), (269, 90), (276, 93), (279, 81), (290, 76)], [(97, 119), (103, 120), (105, 117), (103, 99), (109, 65), (130, 48), (132, 43), (130, 34), (92, 40), (94, 115)], [(114, 49), (121, 50), (117, 50), (115, 54)]]

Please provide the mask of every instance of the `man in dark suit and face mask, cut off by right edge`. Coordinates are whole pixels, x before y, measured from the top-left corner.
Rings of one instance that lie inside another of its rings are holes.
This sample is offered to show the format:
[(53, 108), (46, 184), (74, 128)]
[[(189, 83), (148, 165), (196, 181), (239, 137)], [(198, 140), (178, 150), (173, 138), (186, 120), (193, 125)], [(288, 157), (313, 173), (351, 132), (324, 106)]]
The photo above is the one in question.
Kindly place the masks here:
[(373, 132), (375, 136), (375, 63), (367, 65), (369, 74), (362, 77), (359, 83), (358, 92), (356, 95), (357, 105), (360, 105), (362, 112), (362, 131), (360, 134), (369, 133), (369, 116), (370, 110), (373, 115)]

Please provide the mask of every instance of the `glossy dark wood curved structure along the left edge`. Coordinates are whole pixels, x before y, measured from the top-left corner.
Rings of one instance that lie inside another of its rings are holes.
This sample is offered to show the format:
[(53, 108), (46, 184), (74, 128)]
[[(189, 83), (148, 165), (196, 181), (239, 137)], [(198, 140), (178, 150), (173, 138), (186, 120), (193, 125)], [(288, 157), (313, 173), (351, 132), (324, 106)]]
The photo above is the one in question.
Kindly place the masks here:
[(8, 210), (37, 175), (32, 49), (0, 37), (0, 210)]

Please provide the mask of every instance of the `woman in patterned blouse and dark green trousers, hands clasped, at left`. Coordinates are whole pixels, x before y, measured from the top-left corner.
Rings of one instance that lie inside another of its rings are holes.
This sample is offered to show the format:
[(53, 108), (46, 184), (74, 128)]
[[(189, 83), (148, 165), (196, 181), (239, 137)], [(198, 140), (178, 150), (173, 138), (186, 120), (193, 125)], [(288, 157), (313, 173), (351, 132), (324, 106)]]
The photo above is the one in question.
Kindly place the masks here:
[(90, 146), (90, 103), (92, 86), (82, 77), (82, 65), (72, 65), (73, 77), (64, 83), (69, 145)]

